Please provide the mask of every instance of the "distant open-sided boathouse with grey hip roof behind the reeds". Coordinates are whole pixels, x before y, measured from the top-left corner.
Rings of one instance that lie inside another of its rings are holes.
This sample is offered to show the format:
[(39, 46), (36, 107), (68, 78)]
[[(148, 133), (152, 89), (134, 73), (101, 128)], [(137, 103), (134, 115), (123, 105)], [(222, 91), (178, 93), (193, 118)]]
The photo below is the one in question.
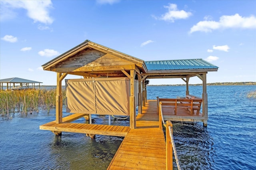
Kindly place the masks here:
[(33, 80), (27, 80), (27, 79), (21, 79), (18, 77), (13, 77), (13, 78), (8, 78), (8, 79), (1, 79), (0, 80), (0, 89), (3, 90), (4, 87), (4, 83), (6, 83), (6, 89), (11, 89), (11, 85), (13, 85), (13, 87), (20, 85), (22, 86), (22, 84), (26, 84), (27, 86), (29, 86), (31, 84), (32, 88), (35, 88), (35, 83), (39, 84), (39, 88), (40, 88), (40, 83), (39, 81), (33, 81)]

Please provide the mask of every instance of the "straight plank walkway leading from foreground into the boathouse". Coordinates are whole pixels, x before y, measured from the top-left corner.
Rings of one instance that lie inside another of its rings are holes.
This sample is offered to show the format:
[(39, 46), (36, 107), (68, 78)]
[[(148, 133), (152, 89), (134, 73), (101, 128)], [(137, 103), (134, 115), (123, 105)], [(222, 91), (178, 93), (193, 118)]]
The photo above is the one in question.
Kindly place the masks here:
[(166, 144), (156, 108), (156, 100), (148, 100), (136, 117), (136, 128), (126, 134), (108, 170), (166, 169)]

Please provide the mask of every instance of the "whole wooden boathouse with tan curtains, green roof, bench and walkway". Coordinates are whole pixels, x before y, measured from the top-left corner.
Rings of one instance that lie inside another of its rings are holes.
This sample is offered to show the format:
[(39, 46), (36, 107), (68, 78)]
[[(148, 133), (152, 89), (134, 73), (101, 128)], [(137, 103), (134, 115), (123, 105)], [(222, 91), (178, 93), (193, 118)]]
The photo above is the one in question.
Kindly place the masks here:
[[(206, 74), (218, 70), (202, 59), (143, 61), (89, 40), (42, 67), (57, 73), (57, 95), (56, 120), (41, 125), (40, 129), (54, 134), (78, 132), (91, 137), (95, 134), (125, 136), (108, 169), (168, 167), (172, 158), (165, 156), (168, 144), (162, 120), (198, 121), (207, 126)], [(66, 110), (73, 114), (62, 117), (62, 81), (66, 75), (78, 75), (83, 79), (65, 80)], [(202, 98), (189, 94), (189, 79), (195, 76), (202, 80)], [(162, 78), (184, 80), (186, 98), (147, 100), (146, 79)], [(127, 115), (130, 126), (95, 125), (91, 121), (90, 124), (72, 123), (94, 114)]]

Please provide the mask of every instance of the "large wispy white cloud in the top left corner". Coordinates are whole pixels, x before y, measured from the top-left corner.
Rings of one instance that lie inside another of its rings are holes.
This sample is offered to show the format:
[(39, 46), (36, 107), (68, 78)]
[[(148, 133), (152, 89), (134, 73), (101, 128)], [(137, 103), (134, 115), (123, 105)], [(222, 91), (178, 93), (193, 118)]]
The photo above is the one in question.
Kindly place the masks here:
[[(49, 10), (52, 8), (50, 0), (10, 0), (1, 1), (1, 15), (4, 18), (13, 18), (13, 9), (23, 8), (27, 10), (27, 16), (34, 20), (34, 22), (41, 22), (44, 24), (52, 24), (53, 18), (49, 15)], [(4, 11), (2, 11), (4, 9)]]

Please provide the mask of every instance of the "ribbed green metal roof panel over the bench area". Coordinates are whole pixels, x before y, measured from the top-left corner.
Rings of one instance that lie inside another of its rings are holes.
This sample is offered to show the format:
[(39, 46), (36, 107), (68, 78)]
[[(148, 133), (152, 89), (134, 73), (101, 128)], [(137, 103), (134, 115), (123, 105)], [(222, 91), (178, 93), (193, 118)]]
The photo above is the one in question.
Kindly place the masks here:
[(218, 69), (203, 59), (145, 61), (148, 70)]

